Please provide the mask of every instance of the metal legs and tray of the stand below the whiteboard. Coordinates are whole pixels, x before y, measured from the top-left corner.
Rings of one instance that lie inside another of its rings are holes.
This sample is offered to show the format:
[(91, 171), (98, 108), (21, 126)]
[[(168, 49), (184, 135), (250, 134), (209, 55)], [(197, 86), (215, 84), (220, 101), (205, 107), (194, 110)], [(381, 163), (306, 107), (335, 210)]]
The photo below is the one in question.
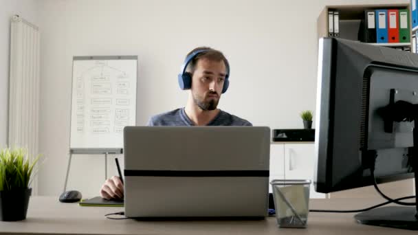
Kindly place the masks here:
[(67, 181), (69, 175), (69, 168), (71, 166), (71, 159), (73, 155), (104, 155), (104, 180), (107, 179), (107, 155), (119, 155), (123, 153), (122, 148), (70, 148), (67, 166), (67, 174), (65, 175), (64, 191), (67, 190)]

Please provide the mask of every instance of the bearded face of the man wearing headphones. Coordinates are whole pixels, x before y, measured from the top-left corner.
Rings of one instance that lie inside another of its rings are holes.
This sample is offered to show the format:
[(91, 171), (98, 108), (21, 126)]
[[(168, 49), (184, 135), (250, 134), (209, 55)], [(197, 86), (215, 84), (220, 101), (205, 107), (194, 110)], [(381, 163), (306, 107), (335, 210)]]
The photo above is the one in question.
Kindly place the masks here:
[(223, 61), (197, 60), (192, 76), (192, 96), (203, 111), (217, 109), (225, 81), (226, 67)]

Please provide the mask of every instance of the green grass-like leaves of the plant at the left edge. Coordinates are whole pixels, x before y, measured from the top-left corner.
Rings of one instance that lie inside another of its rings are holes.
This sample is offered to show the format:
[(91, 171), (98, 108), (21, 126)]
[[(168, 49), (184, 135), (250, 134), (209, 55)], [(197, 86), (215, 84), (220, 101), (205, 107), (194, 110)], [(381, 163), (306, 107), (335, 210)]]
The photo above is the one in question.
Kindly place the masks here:
[(0, 150), (0, 191), (28, 188), (32, 170), (40, 155), (33, 160), (25, 148), (3, 148)]

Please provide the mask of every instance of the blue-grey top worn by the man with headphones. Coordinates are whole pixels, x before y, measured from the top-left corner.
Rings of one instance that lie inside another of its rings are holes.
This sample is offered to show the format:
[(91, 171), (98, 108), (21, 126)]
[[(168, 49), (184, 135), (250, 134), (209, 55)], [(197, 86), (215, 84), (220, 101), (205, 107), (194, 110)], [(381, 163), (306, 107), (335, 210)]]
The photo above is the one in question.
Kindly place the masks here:
[[(184, 108), (154, 115), (148, 121), (148, 126), (194, 126)], [(220, 111), (207, 126), (252, 126), (250, 122), (236, 115)]]

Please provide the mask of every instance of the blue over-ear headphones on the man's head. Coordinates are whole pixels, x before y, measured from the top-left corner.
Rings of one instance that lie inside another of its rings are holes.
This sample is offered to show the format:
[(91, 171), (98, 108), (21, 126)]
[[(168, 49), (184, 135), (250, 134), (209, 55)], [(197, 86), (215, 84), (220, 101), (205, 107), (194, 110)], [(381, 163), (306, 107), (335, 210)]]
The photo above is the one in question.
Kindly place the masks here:
[[(197, 54), (208, 51), (209, 49), (199, 49), (186, 57), (183, 65), (181, 65), (181, 74), (179, 74), (178, 76), (179, 86), (182, 90), (190, 89), (192, 87), (192, 76), (189, 72), (186, 72), (187, 65), (190, 63), (190, 61), (192, 61), (193, 58), (197, 56)], [(230, 65), (228, 65), (228, 61), (224, 61), (226, 67), (226, 75), (225, 80), (223, 81), (222, 93), (225, 93), (225, 91), (228, 90), (228, 87), (230, 85), (230, 80), (228, 79), (230, 76)]]

